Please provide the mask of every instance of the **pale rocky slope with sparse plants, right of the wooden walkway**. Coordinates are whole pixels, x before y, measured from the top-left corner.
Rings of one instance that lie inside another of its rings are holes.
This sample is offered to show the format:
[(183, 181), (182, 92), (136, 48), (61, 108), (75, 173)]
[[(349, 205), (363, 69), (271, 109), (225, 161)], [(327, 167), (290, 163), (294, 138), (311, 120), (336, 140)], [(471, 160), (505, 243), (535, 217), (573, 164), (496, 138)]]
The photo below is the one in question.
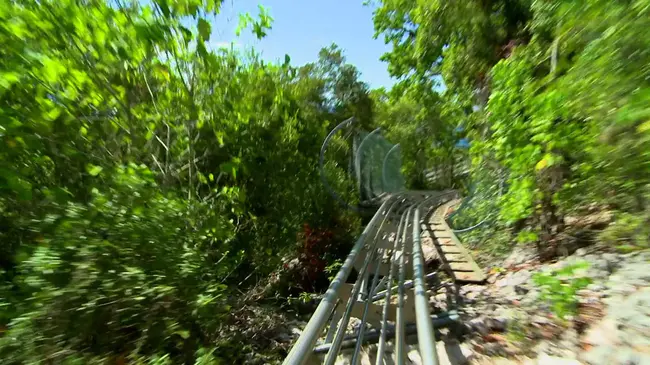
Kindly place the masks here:
[[(461, 341), (478, 364), (650, 364), (650, 251), (597, 247), (551, 264), (518, 249), (486, 285), (441, 281), (438, 310), (458, 309)], [(460, 336), (458, 336), (460, 333)]]

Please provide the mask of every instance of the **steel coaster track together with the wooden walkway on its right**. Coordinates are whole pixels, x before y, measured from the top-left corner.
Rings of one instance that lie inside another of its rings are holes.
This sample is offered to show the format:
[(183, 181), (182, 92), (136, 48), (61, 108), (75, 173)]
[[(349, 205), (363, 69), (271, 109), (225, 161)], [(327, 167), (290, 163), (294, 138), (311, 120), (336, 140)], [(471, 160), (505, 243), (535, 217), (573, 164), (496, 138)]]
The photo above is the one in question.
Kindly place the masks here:
[[(348, 347), (354, 350), (344, 363), (358, 364), (362, 358), (367, 360), (368, 348), (364, 344), (369, 342), (378, 343), (376, 351), (372, 348), (376, 364), (393, 358), (396, 364), (406, 364), (410, 352), (406, 336), (413, 329), (420, 363), (438, 364), (434, 327), (448, 325), (458, 316), (451, 312), (431, 315), (427, 279), (437, 273), (426, 272), (422, 246), (436, 248), (442, 267), (455, 281), (485, 279), (444, 220), (457, 199), (455, 191), (388, 195), (284, 364), (338, 364), (341, 351)], [(353, 271), (357, 273), (354, 284), (346, 283)], [(351, 318), (360, 320), (356, 330), (349, 327)]]

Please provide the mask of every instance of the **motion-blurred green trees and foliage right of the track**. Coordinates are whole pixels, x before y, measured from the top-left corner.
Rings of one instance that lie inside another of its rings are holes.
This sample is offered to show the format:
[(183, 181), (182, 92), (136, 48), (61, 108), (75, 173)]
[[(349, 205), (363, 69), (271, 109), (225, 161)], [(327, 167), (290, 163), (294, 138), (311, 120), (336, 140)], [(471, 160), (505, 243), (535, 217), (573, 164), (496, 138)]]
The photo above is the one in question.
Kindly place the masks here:
[(374, 3), (376, 36), (392, 45), (383, 59), (399, 79), (392, 92), (405, 90), (445, 131), (412, 135), (445, 145), (460, 128), (472, 172), (489, 163), (506, 173), (498, 207), (477, 215), (496, 212), (517, 230), (525, 222), (549, 242), (581, 206), (647, 209), (648, 0)]

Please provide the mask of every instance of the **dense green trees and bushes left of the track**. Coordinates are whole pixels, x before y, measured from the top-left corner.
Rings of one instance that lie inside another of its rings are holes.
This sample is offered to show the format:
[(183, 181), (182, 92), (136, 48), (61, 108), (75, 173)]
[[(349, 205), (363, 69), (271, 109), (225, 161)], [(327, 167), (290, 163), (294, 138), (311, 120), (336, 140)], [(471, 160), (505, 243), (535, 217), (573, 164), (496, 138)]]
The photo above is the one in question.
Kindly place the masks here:
[(236, 290), (304, 224), (351, 242), (317, 158), (340, 119), (370, 120), (367, 86), (335, 46), (298, 68), (209, 49), (220, 5), (0, 2), (3, 364), (242, 362), (219, 338)]

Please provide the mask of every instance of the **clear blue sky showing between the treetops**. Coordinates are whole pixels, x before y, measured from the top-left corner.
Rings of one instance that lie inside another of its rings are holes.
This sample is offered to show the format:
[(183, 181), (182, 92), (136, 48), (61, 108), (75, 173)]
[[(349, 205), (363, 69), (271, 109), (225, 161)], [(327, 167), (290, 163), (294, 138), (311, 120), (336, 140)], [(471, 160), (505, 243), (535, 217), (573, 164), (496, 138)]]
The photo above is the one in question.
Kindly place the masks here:
[[(236, 37), (239, 14), (256, 17), (258, 4), (269, 9), (273, 28), (262, 40), (248, 31)], [(233, 42), (236, 47), (255, 48), (267, 60), (284, 61), (288, 54), (295, 66), (315, 61), (322, 47), (336, 43), (370, 87), (390, 87), (395, 82), (386, 63), (379, 60), (390, 47), (382, 37), (372, 38), (372, 8), (364, 6), (363, 0), (225, 0), (212, 28), (213, 47)]]

